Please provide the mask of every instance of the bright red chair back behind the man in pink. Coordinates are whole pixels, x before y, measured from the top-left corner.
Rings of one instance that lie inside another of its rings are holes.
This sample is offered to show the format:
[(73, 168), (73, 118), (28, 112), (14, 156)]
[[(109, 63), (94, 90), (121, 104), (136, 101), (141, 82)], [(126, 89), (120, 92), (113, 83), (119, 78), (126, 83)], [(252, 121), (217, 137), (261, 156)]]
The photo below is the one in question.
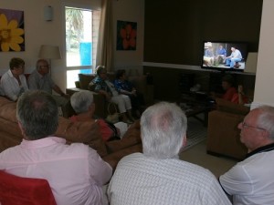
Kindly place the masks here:
[(47, 179), (21, 178), (0, 170), (1, 205), (57, 205)]

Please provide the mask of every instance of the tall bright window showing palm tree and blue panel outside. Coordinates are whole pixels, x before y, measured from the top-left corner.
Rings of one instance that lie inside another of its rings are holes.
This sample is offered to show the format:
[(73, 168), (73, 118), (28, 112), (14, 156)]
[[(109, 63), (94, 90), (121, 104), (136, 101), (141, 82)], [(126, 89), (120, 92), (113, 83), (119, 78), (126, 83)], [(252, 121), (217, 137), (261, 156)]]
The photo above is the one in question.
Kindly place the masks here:
[(67, 87), (95, 68), (100, 11), (65, 6)]

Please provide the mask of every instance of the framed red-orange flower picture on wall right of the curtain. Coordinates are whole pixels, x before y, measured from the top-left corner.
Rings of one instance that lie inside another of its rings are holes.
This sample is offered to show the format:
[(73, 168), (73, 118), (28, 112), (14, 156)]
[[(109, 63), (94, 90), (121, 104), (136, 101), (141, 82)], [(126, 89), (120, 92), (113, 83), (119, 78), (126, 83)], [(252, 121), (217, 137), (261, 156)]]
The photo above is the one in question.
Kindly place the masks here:
[(117, 21), (116, 50), (136, 50), (137, 23)]

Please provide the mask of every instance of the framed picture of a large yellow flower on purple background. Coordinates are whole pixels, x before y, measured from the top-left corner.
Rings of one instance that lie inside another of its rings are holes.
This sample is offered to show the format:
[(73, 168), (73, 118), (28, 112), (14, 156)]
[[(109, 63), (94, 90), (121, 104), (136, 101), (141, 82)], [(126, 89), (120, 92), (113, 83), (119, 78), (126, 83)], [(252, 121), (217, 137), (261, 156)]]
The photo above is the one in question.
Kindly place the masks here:
[(25, 51), (23, 11), (0, 8), (0, 51)]

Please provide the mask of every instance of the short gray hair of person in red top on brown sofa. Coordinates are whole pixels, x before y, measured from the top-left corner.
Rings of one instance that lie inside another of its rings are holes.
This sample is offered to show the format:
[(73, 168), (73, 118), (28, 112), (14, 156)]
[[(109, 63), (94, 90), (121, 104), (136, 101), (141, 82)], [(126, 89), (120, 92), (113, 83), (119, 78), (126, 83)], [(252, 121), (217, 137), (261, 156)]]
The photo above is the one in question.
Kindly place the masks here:
[(93, 94), (89, 90), (79, 91), (70, 97), (71, 107), (77, 114), (88, 112), (91, 103), (93, 103)]

